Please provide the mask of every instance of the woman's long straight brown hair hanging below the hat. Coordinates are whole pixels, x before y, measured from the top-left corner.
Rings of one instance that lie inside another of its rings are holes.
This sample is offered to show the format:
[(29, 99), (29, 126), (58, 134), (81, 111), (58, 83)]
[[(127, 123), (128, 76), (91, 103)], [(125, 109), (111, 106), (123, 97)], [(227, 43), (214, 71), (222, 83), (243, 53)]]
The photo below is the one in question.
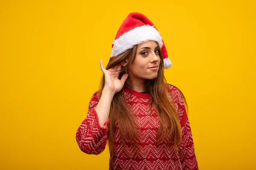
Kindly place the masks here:
[[(158, 46), (159, 49), (161, 49)], [(122, 61), (127, 59), (127, 65), (122, 66), (119, 79), (121, 79), (122, 75), (125, 74), (126, 68), (129, 68), (131, 63), (134, 61), (137, 51), (137, 45), (134, 45), (133, 48), (130, 48), (119, 54), (118, 56), (111, 57), (106, 69), (110, 69), (115, 65), (119, 65)], [(146, 80), (145, 82), (145, 91), (151, 94), (150, 101), (155, 105), (157, 111), (159, 112), (160, 125), (157, 131), (157, 139), (158, 144), (163, 142), (166, 137), (169, 137), (169, 142), (173, 143), (176, 150), (182, 149), (180, 147), (180, 142), (182, 139), (181, 126), (180, 121), (177, 115), (177, 111), (175, 109), (174, 100), (169, 98), (168, 92), (168, 84), (166, 83), (166, 79), (164, 77), (164, 68), (163, 68), (163, 53), (159, 50), (160, 53), (160, 66), (157, 78)], [(103, 74), (101, 85), (100, 85), (100, 95), (105, 85), (105, 76)], [(131, 90), (133, 86), (131, 82), (127, 79), (125, 81), (125, 85), (129, 87)], [(173, 85), (174, 86), (174, 85)], [(176, 86), (174, 86), (176, 87)], [(177, 88), (177, 87), (176, 87)], [(172, 94), (172, 92), (170, 92)], [(186, 108), (187, 103), (185, 96), (181, 92)], [(131, 110), (126, 105), (125, 101), (127, 100), (127, 96), (124, 95), (124, 92), (121, 90), (113, 96), (111, 102), (111, 108), (109, 113), (109, 124), (108, 124), (108, 146), (110, 150), (110, 159), (113, 158), (114, 154), (114, 133), (116, 130), (116, 122), (118, 122), (119, 126), (119, 134), (122, 141), (122, 144), (131, 144), (134, 147), (137, 147), (139, 141), (138, 131), (139, 127), (136, 123), (136, 120), (131, 115)], [(187, 108), (188, 110), (188, 108)], [(169, 136), (168, 136), (169, 135)], [(124, 136), (125, 139), (124, 140)], [(128, 141), (127, 141), (128, 140)], [(126, 141), (126, 142), (125, 142)]]

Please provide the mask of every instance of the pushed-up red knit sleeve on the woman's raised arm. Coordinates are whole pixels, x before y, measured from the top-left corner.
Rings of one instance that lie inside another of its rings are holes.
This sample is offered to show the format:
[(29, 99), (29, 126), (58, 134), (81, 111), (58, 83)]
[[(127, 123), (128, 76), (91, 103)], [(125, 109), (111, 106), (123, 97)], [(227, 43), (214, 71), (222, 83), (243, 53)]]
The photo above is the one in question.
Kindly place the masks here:
[(90, 100), (87, 117), (78, 127), (76, 142), (81, 151), (87, 154), (98, 155), (105, 150), (108, 140), (108, 120), (103, 127), (99, 124), (99, 117), (95, 107), (99, 102), (99, 91), (96, 91)]

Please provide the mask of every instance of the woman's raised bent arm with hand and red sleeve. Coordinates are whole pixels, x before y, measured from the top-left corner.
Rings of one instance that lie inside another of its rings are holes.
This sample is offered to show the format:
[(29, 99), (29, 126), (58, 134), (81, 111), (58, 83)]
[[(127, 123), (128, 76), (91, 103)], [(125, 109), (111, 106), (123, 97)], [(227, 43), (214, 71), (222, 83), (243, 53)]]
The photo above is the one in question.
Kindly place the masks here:
[(119, 92), (128, 78), (124, 74), (119, 79), (121, 65), (115, 65), (106, 70), (103, 61), (100, 60), (100, 67), (105, 77), (105, 85), (102, 95), (99, 97), (99, 91), (96, 91), (89, 103), (87, 117), (79, 126), (76, 132), (76, 142), (79, 148), (88, 154), (98, 155), (105, 150), (108, 140), (108, 122), (111, 102), (114, 94)]

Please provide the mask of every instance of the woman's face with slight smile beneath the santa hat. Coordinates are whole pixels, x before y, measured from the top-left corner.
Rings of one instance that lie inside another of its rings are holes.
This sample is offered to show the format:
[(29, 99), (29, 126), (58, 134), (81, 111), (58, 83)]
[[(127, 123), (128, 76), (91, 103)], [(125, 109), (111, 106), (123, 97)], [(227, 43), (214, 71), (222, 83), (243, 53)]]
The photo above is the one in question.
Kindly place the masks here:
[[(128, 68), (130, 79), (155, 79), (160, 66), (159, 47), (155, 41), (137, 46), (134, 62)], [(154, 68), (151, 68), (154, 67)]]

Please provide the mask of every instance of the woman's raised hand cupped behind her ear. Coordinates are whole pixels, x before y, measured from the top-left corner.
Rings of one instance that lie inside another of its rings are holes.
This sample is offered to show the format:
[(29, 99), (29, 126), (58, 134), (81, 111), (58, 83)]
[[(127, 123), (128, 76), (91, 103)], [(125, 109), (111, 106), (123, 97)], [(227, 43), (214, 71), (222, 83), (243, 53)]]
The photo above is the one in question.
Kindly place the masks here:
[(100, 60), (100, 68), (105, 76), (105, 86), (104, 90), (107, 90), (111, 93), (116, 94), (117, 92), (121, 91), (123, 88), (126, 79), (128, 78), (128, 74), (124, 74), (121, 79), (118, 79), (121, 64), (116, 65), (108, 70), (104, 68), (102, 59)]

